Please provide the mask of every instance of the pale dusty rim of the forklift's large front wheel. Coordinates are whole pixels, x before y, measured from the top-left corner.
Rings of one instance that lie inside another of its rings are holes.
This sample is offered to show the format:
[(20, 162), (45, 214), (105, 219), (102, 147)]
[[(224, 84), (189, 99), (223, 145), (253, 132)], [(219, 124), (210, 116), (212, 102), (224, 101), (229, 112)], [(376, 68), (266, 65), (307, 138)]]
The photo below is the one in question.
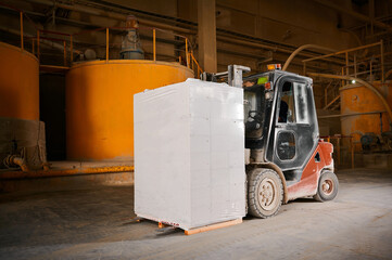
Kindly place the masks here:
[(277, 184), (273, 179), (265, 178), (258, 185), (257, 194), (258, 204), (264, 210), (271, 210), (277, 206)]

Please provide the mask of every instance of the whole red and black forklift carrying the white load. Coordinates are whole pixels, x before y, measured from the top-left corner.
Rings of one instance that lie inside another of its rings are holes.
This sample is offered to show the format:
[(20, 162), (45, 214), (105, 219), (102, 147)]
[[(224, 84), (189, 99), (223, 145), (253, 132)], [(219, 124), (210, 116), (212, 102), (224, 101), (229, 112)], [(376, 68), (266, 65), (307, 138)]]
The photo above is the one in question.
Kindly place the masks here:
[(319, 139), (313, 80), (281, 70), (243, 77), (250, 68), (203, 73), (201, 79), (243, 88), (248, 213), (269, 218), (281, 204), (300, 197), (333, 199), (339, 181), (333, 173), (333, 146)]

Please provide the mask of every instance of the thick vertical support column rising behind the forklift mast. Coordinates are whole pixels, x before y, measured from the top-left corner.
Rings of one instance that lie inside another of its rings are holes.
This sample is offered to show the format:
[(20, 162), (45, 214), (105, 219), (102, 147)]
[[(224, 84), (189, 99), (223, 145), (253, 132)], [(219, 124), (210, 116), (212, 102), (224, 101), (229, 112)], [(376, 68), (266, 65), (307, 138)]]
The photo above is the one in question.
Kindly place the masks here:
[(198, 0), (199, 61), (207, 73), (217, 73), (215, 0)]

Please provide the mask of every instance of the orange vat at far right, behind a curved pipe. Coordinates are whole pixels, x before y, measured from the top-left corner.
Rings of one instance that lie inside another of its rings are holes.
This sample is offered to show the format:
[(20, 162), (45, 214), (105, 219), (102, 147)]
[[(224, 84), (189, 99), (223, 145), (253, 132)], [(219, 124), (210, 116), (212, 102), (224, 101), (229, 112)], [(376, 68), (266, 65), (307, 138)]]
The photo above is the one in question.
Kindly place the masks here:
[[(371, 83), (385, 98), (390, 107), (392, 106), (392, 82), (387, 81), (381, 83), (375, 81)], [(380, 99), (368, 88), (364, 86), (354, 86), (352, 88), (344, 88), (340, 91), (341, 95), (341, 114), (363, 114), (355, 116), (344, 116), (341, 118), (342, 134), (352, 134), (355, 141), (359, 141), (362, 134), (372, 132), (381, 134), (382, 132), (391, 131), (388, 113), (367, 114), (371, 112), (385, 112)], [(361, 146), (358, 145), (357, 148)]]

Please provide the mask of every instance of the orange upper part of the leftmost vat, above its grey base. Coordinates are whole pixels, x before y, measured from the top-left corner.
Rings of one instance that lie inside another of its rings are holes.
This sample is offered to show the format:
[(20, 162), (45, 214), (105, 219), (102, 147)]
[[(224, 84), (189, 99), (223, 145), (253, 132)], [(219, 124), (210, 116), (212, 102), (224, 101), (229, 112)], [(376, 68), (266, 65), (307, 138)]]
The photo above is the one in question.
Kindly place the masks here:
[(38, 60), (0, 42), (0, 117), (39, 120)]

